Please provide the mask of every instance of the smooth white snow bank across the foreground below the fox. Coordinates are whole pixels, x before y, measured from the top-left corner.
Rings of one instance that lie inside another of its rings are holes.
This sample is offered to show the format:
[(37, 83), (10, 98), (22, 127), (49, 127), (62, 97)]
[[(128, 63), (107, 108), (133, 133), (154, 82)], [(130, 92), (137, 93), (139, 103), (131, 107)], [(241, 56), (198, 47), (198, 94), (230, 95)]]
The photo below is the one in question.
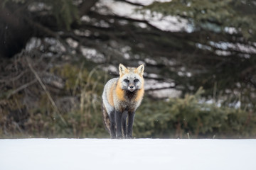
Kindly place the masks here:
[(0, 169), (256, 169), (256, 140), (0, 140)]

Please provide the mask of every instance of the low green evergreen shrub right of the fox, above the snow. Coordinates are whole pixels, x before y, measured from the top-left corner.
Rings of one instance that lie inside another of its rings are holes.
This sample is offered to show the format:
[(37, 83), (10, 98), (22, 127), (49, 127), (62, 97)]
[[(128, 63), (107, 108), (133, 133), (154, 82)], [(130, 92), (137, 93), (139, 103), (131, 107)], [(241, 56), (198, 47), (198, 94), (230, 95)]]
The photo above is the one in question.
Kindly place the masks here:
[(136, 137), (247, 138), (256, 135), (256, 118), (240, 108), (200, 101), (202, 89), (184, 98), (145, 98), (134, 122)]

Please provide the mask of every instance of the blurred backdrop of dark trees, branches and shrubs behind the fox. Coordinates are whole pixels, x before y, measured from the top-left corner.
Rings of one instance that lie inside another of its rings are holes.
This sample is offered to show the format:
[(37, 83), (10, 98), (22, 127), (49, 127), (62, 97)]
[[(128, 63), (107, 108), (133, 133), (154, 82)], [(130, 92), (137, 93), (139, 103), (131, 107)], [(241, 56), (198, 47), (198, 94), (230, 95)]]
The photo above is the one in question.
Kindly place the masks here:
[(145, 64), (134, 137), (255, 138), (256, 1), (0, 1), (0, 137), (109, 137), (104, 84)]

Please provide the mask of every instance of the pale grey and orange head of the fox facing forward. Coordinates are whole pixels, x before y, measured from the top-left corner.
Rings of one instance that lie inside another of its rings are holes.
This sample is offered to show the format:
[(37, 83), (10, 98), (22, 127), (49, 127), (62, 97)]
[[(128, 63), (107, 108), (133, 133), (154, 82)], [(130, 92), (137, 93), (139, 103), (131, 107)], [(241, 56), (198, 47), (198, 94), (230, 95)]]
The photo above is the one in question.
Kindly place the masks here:
[(139, 67), (124, 67), (123, 64), (119, 64), (119, 85), (121, 89), (128, 91), (135, 91), (142, 89), (144, 86), (144, 64)]

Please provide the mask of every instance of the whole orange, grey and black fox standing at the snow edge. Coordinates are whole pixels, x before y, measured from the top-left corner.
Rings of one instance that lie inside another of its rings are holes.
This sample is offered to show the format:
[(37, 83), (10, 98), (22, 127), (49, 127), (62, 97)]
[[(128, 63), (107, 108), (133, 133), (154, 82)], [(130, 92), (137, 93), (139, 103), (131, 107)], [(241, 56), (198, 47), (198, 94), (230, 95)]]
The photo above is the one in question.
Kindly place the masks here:
[(137, 68), (119, 64), (119, 78), (110, 79), (104, 87), (103, 122), (112, 138), (132, 138), (135, 111), (144, 95), (143, 73), (144, 64)]

